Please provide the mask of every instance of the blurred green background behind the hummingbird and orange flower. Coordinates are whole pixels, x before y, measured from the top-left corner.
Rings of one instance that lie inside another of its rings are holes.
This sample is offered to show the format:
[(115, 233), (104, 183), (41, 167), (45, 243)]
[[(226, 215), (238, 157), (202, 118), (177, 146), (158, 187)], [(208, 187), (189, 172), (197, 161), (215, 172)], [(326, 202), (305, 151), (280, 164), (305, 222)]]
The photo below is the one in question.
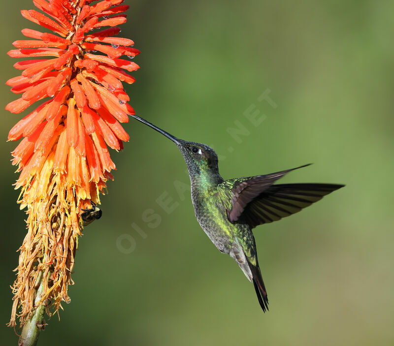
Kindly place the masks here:
[[(393, 1), (127, 3), (121, 35), (142, 51), (127, 86), (138, 115), (214, 147), (225, 179), (313, 162), (281, 182), (347, 186), (255, 229), (263, 314), (199, 227), (180, 153), (131, 120), (103, 217), (80, 240), (71, 304), (39, 345), (393, 345)], [(19, 74), (5, 53), (36, 28), (19, 14), (31, 8), (20, 0), (1, 12), (3, 82)], [(0, 89), (4, 107), (15, 95)], [(259, 126), (245, 117), (254, 112)], [(2, 114), (0, 333), (16, 345), (5, 323), (25, 214), (6, 137), (21, 115)], [(237, 126), (248, 133), (238, 140)], [(169, 214), (157, 203), (167, 198)], [(153, 212), (160, 222), (146, 222)]]

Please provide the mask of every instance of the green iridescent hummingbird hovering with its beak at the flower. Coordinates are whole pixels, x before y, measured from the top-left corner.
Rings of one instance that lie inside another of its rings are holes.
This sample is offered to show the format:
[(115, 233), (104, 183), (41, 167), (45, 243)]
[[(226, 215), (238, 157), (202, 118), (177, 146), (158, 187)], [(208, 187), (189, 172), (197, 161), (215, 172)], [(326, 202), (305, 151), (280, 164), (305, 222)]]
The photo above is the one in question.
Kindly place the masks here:
[(253, 283), (265, 313), (268, 298), (252, 229), (293, 215), (344, 185), (274, 184), (287, 173), (310, 164), (271, 174), (224, 180), (219, 174), (218, 156), (212, 148), (176, 138), (136, 115), (131, 116), (178, 147), (189, 171), (198, 223), (216, 248), (229, 254)]

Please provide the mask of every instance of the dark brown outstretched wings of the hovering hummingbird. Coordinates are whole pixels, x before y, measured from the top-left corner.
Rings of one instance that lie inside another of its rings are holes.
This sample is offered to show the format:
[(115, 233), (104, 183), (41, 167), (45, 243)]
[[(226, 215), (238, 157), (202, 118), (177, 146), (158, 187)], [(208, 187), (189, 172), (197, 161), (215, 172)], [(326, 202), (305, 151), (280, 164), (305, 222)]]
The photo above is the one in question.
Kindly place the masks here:
[(243, 182), (235, 185), (231, 189), (228, 219), (234, 222), (242, 216), (254, 228), (295, 214), (328, 193), (343, 187), (335, 184), (272, 185), (289, 171), (244, 178)]

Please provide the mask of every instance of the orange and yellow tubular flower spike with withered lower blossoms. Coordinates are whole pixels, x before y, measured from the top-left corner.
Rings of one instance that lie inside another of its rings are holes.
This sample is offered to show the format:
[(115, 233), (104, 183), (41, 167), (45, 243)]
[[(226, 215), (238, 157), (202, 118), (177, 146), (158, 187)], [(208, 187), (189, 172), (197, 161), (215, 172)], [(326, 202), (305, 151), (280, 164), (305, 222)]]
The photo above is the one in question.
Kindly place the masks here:
[(6, 84), (20, 98), (5, 109), (22, 113), (38, 102), (8, 135), (22, 139), (12, 163), (28, 213), (10, 326), (17, 316), (24, 325), (38, 306), (57, 311), (69, 302), (78, 236), (101, 216), (99, 193), (116, 168), (108, 147), (119, 151), (129, 140), (121, 123), (134, 111), (123, 82), (134, 82), (126, 71), (139, 68), (130, 61), (139, 51), (131, 39), (116, 36), (129, 8), (122, 2), (33, 0), (38, 10), (21, 11), (43, 31), (22, 30), (28, 39), (13, 42), (16, 49), (8, 52), (27, 60), (14, 64), (22, 73)]

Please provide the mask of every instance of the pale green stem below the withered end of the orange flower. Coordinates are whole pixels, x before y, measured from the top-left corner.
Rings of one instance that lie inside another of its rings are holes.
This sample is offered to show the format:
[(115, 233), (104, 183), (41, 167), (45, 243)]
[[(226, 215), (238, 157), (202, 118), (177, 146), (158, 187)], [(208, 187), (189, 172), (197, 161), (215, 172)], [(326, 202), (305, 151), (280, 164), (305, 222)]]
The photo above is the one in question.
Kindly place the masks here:
[[(37, 289), (37, 295), (34, 300), (34, 306), (38, 304), (41, 299), (42, 292), (44, 290), (44, 284), (42, 282), (42, 272), (39, 274), (37, 278), (37, 284), (39, 283), (39, 287)], [(41, 304), (35, 309), (34, 315), (25, 323), (22, 329), (22, 335), (19, 338), (19, 346), (35, 346), (37, 345), (38, 336), (40, 334), (40, 330), (44, 324), (44, 313), (45, 306)]]

